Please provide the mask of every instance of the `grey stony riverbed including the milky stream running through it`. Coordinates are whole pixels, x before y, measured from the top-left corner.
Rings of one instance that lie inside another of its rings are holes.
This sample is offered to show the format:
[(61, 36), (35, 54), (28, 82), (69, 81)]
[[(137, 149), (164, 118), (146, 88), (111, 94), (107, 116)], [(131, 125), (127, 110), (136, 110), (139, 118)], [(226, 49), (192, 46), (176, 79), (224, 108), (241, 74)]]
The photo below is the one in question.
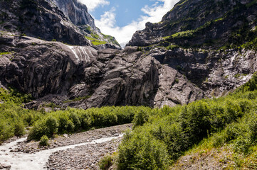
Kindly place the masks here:
[(131, 124), (62, 135), (48, 147), (23, 137), (0, 146), (0, 169), (98, 169), (99, 160), (116, 151)]

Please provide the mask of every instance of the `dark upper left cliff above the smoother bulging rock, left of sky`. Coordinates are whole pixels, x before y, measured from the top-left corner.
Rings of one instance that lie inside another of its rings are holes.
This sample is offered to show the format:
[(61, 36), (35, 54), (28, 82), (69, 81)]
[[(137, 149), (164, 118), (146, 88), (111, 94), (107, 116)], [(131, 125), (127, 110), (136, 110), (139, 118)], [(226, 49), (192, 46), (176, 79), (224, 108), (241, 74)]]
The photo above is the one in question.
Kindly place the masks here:
[[(87, 7), (77, 1), (2, 0), (0, 4), (1, 30), (42, 40), (57, 40), (70, 45), (120, 49), (115, 38), (108, 36), (113, 41), (100, 38), (104, 36), (95, 27)], [(97, 44), (92, 43), (88, 33), (84, 31), (89, 28), (93, 28), (91, 32), (97, 36)]]

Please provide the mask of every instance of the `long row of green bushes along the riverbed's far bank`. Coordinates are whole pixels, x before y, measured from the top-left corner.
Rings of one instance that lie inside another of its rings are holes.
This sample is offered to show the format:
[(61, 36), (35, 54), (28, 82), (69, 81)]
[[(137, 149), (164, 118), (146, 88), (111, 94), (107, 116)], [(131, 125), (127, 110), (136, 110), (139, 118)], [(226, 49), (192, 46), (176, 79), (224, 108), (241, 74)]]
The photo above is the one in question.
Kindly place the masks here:
[(141, 106), (103, 107), (88, 110), (68, 108), (65, 111), (48, 113), (38, 120), (28, 134), (28, 140), (40, 140), (43, 135), (63, 134), (131, 123), (135, 113), (150, 111)]

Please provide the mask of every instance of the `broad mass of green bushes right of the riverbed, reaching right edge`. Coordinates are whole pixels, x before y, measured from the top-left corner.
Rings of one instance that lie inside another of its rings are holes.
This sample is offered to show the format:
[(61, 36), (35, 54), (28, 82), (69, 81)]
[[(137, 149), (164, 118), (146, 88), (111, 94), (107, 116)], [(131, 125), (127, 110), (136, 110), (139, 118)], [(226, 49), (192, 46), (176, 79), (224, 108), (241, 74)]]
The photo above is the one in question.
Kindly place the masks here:
[[(151, 169), (166, 169), (187, 149), (209, 136), (214, 137), (215, 146), (233, 142), (236, 152), (249, 152), (257, 141), (256, 84), (255, 74), (226, 97), (140, 112), (133, 120), (134, 129), (127, 132), (119, 147), (117, 166), (142, 169), (139, 165), (144, 164)], [(164, 160), (156, 155), (162, 155)]]

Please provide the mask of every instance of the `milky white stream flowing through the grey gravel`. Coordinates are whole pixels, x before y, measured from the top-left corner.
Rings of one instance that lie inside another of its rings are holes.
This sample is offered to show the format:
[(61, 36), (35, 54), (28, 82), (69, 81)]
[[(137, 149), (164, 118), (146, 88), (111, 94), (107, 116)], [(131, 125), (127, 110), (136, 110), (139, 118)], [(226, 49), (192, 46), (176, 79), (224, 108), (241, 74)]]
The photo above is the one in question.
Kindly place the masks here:
[[(122, 135), (118, 137), (122, 137)], [(99, 140), (93, 140), (92, 142), (85, 142), (65, 147), (56, 147), (53, 149), (47, 149), (33, 154), (27, 154), (23, 152), (10, 152), (11, 149), (14, 149), (16, 147), (18, 142), (23, 142), (26, 140), (26, 137), (23, 137), (9, 144), (0, 145), (0, 164), (11, 165), (11, 169), (46, 169), (46, 163), (48, 162), (48, 158), (51, 156), (53, 152), (65, 149), (72, 149), (74, 147), (88, 144), (103, 143), (113, 139), (117, 139), (118, 137), (105, 137)]]

